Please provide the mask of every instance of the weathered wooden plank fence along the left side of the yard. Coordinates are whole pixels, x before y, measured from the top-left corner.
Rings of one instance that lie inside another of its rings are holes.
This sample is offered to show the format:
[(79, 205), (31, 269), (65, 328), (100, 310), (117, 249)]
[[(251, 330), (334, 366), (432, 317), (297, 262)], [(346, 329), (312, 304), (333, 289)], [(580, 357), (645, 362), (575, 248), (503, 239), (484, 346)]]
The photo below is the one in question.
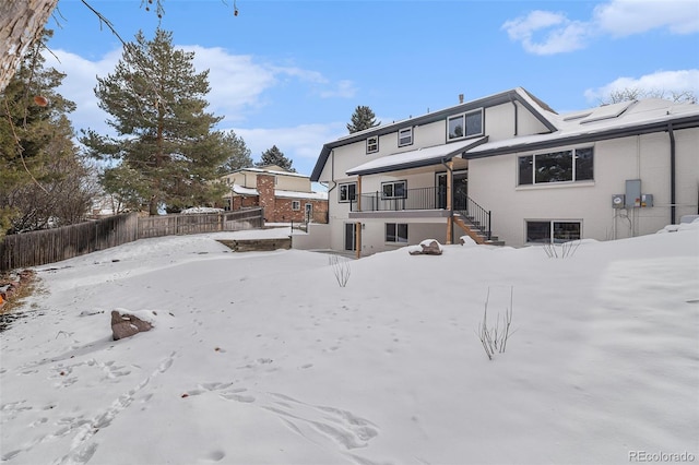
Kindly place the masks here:
[(262, 208), (142, 218), (130, 213), (61, 228), (10, 235), (0, 241), (0, 272), (60, 262), (137, 239), (261, 228), (264, 226)]

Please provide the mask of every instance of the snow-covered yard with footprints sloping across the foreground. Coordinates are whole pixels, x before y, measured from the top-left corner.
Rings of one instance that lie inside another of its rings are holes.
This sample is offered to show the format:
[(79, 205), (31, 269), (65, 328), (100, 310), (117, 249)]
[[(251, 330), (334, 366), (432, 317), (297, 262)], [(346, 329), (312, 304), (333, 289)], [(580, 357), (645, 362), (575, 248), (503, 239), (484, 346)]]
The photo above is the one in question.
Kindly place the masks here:
[[(696, 226), (696, 227), (695, 227)], [(0, 333), (8, 464), (699, 461), (699, 224), (572, 257), (331, 264), (147, 239), (38, 267)], [(351, 272), (346, 286), (337, 266)], [(347, 269), (348, 267), (348, 269)], [(476, 332), (512, 309), (507, 350)], [(110, 311), (155, 327), (112, 341)], [(643, 460), (645, 458), (645, 460)]]

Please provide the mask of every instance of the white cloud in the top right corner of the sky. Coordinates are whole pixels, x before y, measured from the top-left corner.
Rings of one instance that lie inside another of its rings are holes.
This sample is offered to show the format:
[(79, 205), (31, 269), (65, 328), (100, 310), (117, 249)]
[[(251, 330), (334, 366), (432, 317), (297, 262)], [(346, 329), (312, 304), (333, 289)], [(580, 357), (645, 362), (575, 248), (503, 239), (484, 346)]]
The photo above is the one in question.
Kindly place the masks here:
[(532, 11), (502, 25), (510, 39), (535, 55), (578, 50), (593, 36), (613, 37), (667, 28), (673, 34), (699, 32), (695, 0), (612, 0), (595, 7), (589, 21), (572, 21), (564, 13)]

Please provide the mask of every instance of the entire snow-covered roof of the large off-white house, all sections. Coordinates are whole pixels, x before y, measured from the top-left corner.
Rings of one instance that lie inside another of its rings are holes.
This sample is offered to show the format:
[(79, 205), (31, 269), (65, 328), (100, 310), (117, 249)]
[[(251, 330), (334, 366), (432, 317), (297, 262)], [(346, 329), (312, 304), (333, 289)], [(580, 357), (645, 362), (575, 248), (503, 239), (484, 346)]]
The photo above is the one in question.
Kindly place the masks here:
[[(460, 111), (501, 105), (508, 102), (518, 102), (526, 107), (549, 132), (493, 142), (481, 140), (478, 144), (469, 146), (462, 151), (465, 152), (463, 154), (464, 158), (479, 158), (518, 151), (535, 151), (567, 144), (589, 143), (605, 139), (667, 131), (671, 127), (673, 130), (699, 127), (699, 105), (696, 104), (673, 103), (659, 98), (649, 98), (635, 102), (621, 102), (559, 115), (524, 88), (517, 87), (512, 91), (445, 108), (417, 118), (367, 129), (327, 143), (321, 150), (310, 179), (311, 181), (318, 181), (330, 154), (335, 147), (363, 141), (369, 135), (391, 133), (402, 127), (425, 124), (445, 119), (447, 116)], [(428, 150), (434, 150), (435, 152), (447, 151), (445, 152), (446, 155), (453, 157), (455, 154), (448, 152), (452, 145), (453, 143), (448, 143), (423, 148), (422, 151), (388, 155), (354, 167), (347, 170), (347, 174), (364, 175), (383, 172), (439, 163), (442, 157), (435, 156), (429, 158), (429, 153), (419, 152)], [(431, 159), (431, 163), (428, 163), (428, 159)]]

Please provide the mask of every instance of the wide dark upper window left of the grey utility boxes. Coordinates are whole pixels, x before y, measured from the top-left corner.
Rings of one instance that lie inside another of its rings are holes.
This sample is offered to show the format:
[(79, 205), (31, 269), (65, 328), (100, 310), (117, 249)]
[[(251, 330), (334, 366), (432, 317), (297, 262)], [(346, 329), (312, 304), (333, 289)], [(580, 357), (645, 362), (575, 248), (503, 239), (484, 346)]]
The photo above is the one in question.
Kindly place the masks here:
[(592, 147), (521, 156), (519, 184), (590, 181), (593, 178)]

